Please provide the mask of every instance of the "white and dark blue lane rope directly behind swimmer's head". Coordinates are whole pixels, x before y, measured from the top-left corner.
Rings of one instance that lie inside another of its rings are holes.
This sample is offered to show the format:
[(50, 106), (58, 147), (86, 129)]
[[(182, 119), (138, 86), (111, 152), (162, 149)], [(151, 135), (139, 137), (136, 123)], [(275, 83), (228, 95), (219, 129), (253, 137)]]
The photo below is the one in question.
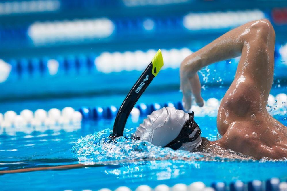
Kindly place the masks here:
[[(191, 107), (196, 117), (216, 117), (217, 111), (220, 106), (221, 100), (210, 98), (204, 101), (204, 106), (199, 107), (195, 104)], [(137, 122), (139, 117), (146, 117), (153, 111), (162, 107), (175, 107), (176, 109), (183, 110), (181, 101), (166, 102), (166, 103), (140, 103), (136, 105), (131, 113), (133, 122)], [(287, 95), (284, 93), (277, 94), (276, 96), (269, 95), (268, 104), (266, 105), (267, 111), (270, 115), (280, 115), (283, 120), (287, 117)], [(7, 111), (0, 113), (0, 127), (21, 127), (21, 126), (54, 126), (61, 124), (75, 124), (80, 123), (82, 120), (100, 120), (100, 119), (113, 119), (117, 115), (118, 107), (81, 107), (75, 111), (72, 107), (65, 107), (60, 111), (59, 109), (52, 108), (49, 111), (37, 109), (34, 113), (25, 109), (17, 115), (14, 111)]]

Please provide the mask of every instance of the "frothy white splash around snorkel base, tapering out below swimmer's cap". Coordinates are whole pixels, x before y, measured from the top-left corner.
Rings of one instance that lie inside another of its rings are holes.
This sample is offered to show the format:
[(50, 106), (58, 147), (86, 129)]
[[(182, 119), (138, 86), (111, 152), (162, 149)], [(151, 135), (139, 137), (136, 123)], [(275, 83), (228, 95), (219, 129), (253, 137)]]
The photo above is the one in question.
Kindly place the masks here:
[(124, 136), (111, 141), (108, 137), (112, 132), (105, 129), (94, 134), (89, 134), (78, 140), (72, 148), (72, 152), (79, 159), (80, 163), (91, 164), (104, 161), (140, 161), (151, 159), (194, 159), (198, 160), (202, 156), (198, 153), (188, 151), (174, 151), (170, 148), (155, 146), (149, 142), (132, 140), (133, 134), (128, 134), (126, 130)]

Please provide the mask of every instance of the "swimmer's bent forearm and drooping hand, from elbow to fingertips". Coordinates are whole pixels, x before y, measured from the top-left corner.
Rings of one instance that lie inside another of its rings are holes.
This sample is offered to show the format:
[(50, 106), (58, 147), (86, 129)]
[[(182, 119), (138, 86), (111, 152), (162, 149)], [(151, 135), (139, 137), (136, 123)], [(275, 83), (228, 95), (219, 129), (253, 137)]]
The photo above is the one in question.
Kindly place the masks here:
[(256, 22), (269, 21), (263, 19), (239, 26), (183, 60), (180, 65), (180, 89), (183, 92), (186, 111), (191, 108), (191, 94), (194, 95), (197, 105), (203, 106), (201, 84), (197, 72), (212, 63), (240, 56), (246, 42), (254, 37), (250, 34), (250, 30), (257, 30), (254, 25)]

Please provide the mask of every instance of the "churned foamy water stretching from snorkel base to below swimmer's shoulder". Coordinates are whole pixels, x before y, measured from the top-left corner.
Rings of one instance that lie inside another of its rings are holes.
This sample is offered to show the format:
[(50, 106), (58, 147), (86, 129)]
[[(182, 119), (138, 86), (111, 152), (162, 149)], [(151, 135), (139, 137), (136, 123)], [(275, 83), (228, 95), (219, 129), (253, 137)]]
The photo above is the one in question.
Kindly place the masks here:
[[(108, 137), (112, 132), (105, 129), (94, 134), (80, 138), (73, 146), (72, 152), (83, 164), (94, 164), (98, 162), (111, 162), (119, 164), (122, 162), (140, 162), (152, 160), (181, 160), (181, 161), (254, 161), (252, 157), (218, 149), (217, 153), (193, 152), (183, 150), (172, 150), (155, 146), (149, 142), (133, 140), (130, 133), (133, 129), (126, 130), (124, 136), (111, 141)], [(120, 161), (120, 162), (119, 162)]]

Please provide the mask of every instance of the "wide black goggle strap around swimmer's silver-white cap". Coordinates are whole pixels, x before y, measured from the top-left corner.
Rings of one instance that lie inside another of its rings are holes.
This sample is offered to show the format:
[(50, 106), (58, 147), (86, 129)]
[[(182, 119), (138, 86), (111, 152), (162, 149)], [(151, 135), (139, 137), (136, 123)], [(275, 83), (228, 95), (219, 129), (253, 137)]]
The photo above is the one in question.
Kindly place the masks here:
[[(177, 150), (183, 145), (183, 143), (195, 141), (200, 136), (201, 130), (197, 125), (197, 123), (194, 121), (194, 112), (192, 111), (192, 113), (188, 114), (189, 114), (189, 120), (185, 122), (179, 135), (165, 147), (170, 147), (173, 150)], [(189, 135), (193, 133), (195, 128), (198, 128), (198, 131), (193, 137), (189, 138)]]

